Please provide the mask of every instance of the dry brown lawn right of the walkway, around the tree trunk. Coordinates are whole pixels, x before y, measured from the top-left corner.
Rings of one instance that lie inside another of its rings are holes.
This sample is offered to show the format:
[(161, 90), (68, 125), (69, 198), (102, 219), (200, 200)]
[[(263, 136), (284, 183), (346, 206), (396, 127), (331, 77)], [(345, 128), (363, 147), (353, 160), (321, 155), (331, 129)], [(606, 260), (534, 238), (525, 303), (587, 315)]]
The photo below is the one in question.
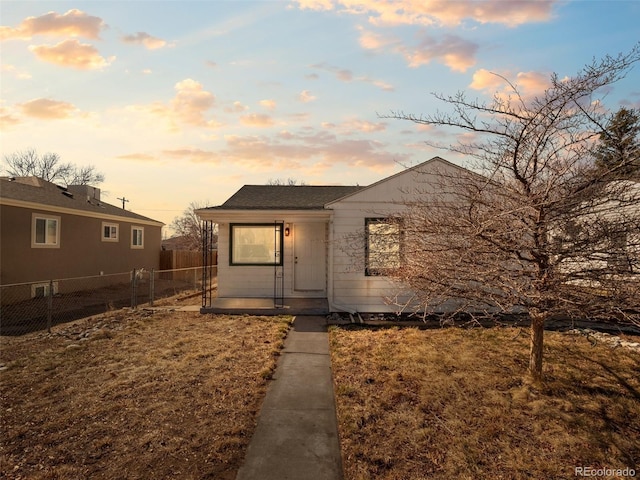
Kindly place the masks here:
[(640, 476), (640, 354), (547, 332), (532, 385), (518, 333), (332, 328), (345, 479)]

